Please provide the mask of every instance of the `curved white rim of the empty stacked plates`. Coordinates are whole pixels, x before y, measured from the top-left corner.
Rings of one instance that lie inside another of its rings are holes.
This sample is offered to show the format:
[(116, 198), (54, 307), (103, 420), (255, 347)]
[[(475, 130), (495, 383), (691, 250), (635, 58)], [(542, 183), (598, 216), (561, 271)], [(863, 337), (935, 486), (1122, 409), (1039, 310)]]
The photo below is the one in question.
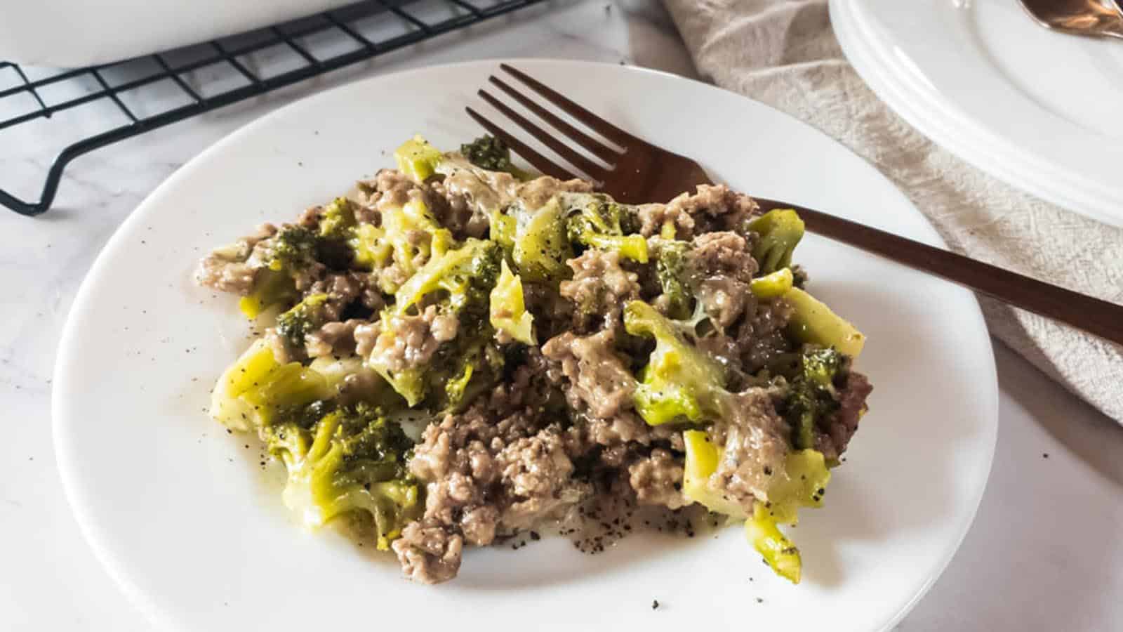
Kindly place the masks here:
[[(878, 29), (859, 16), (860, 0), (829, 0), (834, 35), (846, 60), (893, 112), (940, 147), (1015, 189), (1065, 210), (1111, 226), (1123, 226), (1123, 187), (1088, 178), (1066, 161), (1028, 153), (985, 128), (975, 117), (937, 90), (920, 90), (907, 69), (894, 64), (880, 46)], [(964, 134), (965, 128), (971, 134)], [(1061, 175), (1060, 178), (1058, 175)], [(1114, 190), (1112, 190), (1114, 189)]]

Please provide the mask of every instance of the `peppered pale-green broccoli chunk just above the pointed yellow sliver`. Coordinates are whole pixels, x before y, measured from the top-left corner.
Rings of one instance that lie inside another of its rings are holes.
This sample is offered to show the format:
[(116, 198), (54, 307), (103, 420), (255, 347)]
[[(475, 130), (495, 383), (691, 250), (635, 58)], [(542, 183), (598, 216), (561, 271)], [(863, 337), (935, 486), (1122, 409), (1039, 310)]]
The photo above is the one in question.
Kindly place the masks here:
[(557, 283), (569, 274), (573, 256), (565, 237), (562, 207), (551, 198), (532, 214), (521, 214), (511, 258), (519, 276), (529, 281)]

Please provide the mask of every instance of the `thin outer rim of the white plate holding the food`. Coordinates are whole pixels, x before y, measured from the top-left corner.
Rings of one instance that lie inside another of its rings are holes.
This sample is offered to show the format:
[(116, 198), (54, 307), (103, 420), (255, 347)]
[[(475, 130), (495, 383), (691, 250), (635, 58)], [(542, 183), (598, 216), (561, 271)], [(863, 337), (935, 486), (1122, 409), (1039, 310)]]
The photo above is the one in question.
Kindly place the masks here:
[[(58, 345), (55, 356), (54, 370), (52, 373), (53, 388), (51, 396), (51, 417), (52, 417), (52, 441), (55, 449), (56, 464), (58, 469), (58, 475), (61, 478), (64, 496), (66, 498), (67, 505), (74, 515), (75, 521), (79, 524), (79, 530), (82, 533), (83, 539), (86, 544), (92, 549), (95, 558), (104, 568), (106, 572), (113, 579), (117, 586), (121, 589), (125, 596), (128, 598), (129, 603), (136, 607), (150, 623), (156, 625), (158, 629), (167, 630), (180, 630), (181, 628), (174, 623), (173, 617), (166, 616), (158, 612), (158, 608), (153, 599), (145, 597), (145, 590), (138, 586), (133, 579), (130, 579), (126, 572), (118, 566), (117, 556), (111, 551), (111, 547), (106, 544), (103, 535), (100, 529), (95, 527), (92, 520), (91, 512), (92, 506), (85, 503), (81, 494), (77, 491), (77, 472), (74, 470), (74, 452), (75, 448), (72, 445), (72, 441), (66, 436), (65, 422), (62, 419), (60, 410), (65, 408), (64, 391), (67, 390), (70, 386), (70, 379), (64, 370), (67, 364), (71, 363), (71, 355), (73, 354), (74, 342), (73, 338), (77, 335), (77, 324), (73, 317), (74, 313), (77, 312), (80, 306), (84, 306), (88, 301), (92, 300), (91, 294), (93, 288), (92, 279), (100, 277), (99, 272), (106, 265), (108, 265), (109, 253), (113, 252), (118, 247), (118, 242), (124, 241), (126, 233), (134, 224), (139, 224), (144, 216), (144, 211), (150, 205), (157, 204), (166, 193), (165, 191), (171, 189), (180, 180), (190, 178), (191, 172), (194, 168), (201, 163), (207, 162), (207, 160), (214, 153), (218, 153), (229, 145), (237, 144), (240, 138), (247, 134), (253, 133), (258, 126), (267, 125), (274, 117), (277, 117), (281, 112), (289, 111), (291, 109), (308, 107), (310, 103), (316, 102), (320, 99), (330, 99), (337, 92), (343, 92), (347, 89), (353, 89), (356, 84), (366, 82), (377, 82), (389, 80), (391, 78), (404, 74), (412, 74), (417, 72), (427, 72), (433, 70), (448, 70), (456, 69), (460, 66), (481, 66), (485, 64), (499, 64), (500, 62), (510, 64), (559, 64), (567, 66), (597, 66), (603, 69), (610, 69), (613, 72), (626, 72), (626, 73), (646, 73), (663, 75), (669, 78), (673, 81), (685, 81), (690, 83), (700, 84), (706, 89), (720, 90), (727, 92), (740, 99), (747, 99), (752, 101), (759, 107), (767, 108), (774, 114), (787, 118), (795, 123), (796, 125), (806, 127), (815, 133), (820, 138), (825, 142), (833, 143), (847, 153), (855, 155), (859, 160), (869, 166), (871, 170), (871, 177), (876, 174), (885, 181), (893, 191), (901, 196), (902, 201), (907, 204), (909, 207), (916, 214), (916, 217), (921, 219), (917, 228), (924, 233), (925, 241), (938, 245), (939, 247), (947, 249), (947, 243), (939, 235), (935, 228), (932, 226), (931, 222), (916, 208), (916, 206), (907, 199), (907, 197), (901, 191), (901, 189), (894, 184), (884, 173), (880, 172), (876, 166), (868, 163), (860, 156), (857, 156), (848, 147), (842, 145), (839, 141), (832, 138), (825, 133), (814, 128), (807, 123), (787, 114), (778, 110), (767, 103), (763, 103), (738, 92), (730, 90), (724, 90), (716, 85), (694, 80), (691, 78), (677, 75), (670, 72), (646, 69), (639, 66), (620, 65), (610, 62), (597, 62), (597, 61), (586, 61), (586, 60), (568, 60), (568, 58), (557, 58), (557, 57), (489, 57), (481, 60), (469, 60), (460, 61), (447, 64), (432, 64), (418, 67), (402, 69), (389, 73), (380, 73), (371, 76), (358, 78), (354, 81), (348, 81), (346, 83), (332, 87), (328, 90), (322, 90), (312, 94), (308, 94), (292, 102), (285, 103), (280, 107), (275, 107), (261, 116), (254, 118), (250, 121), (243, 124), (241, 126), (232, 129), (211, 145), (207, 146), (204, 150), (195, 154), (194, 156), (186, 160), (180, 168), (177, 168), (172, 174), (170, 174), (164, 181), (162, 181), (155, 189), (149, 192), (140, 204), (125, 218), (124, 222), (113, 231), (113, 234), (107, 240), (106, 244), (99, 251), (93, 263), (90, 265), (89, 270), (85, 272), (82, 283), (79, 290), (75, 292), (74, 300), (71, 304), (70, 310), (67, 312), (66, 322), (63, 325), (62, 333), (58, 338)], [(874, 255), (869, 255), (874, 256)], [(935, 581), (943, 575), (948, 565), (955, 558), (956, 553), (959, 551), (964, 539), (974, 525), (975, 517), (977, 516), (982, 499), (986, 493), (986, 488), (989, 484), (990, 472), (994, 466), (994, 455), (997, 446), (997, 435), (998, 435), (998, 380), (997, 380), (997, 367), (995, 362), (993, 341), (989, 335), (989, 331), (986, 325), (986, 320), (983, 315), (982, 307), (978, 304), (978, 298), (971, 294), (970, 305), (974, 309), (970, 309), (973, 319), (976, 326), (979, 327), (979, 332), (983, 334), (982, 340), (985, 342), (985, 347), (979, 350), (980, 360), (985, 359), (984, 365), (979, 367), (985, 372), (985, 382), (988, 388), (986, 388), (985, 400), (980, 400), (980, 409), (985, 412), (983, 416), (984, 422), (989, 422), (989, 433), (980, 435), (980, 445), (985, 448), (985, 467), (984, 476), (979, 485), (975, 487), (975, 495), (970, 498), (970, 511), (968, 512), (967, 520), (965, 520), (956, 534), (956, 538), (948, 540), (947, 550), (941, 552), (940, 563), (937, 565), (935, 571), (932, 572), (928, 579), (921, 585), (913, 597), (903, 603), (901, 607), (885, 622), (877, 628), (878, 631), (889, 631), (894, 625), (896, 625), (913, 607), (928, 594)]]

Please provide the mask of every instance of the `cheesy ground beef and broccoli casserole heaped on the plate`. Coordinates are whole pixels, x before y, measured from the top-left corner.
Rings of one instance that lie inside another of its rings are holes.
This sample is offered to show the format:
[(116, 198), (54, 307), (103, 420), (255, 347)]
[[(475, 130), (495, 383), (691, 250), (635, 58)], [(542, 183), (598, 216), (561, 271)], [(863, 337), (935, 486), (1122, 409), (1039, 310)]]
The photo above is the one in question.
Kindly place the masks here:
[(798, 581), (777, 525), (822, 503), (871, 388), (861, 334), (801, 289), (798, 216), (721, 186), (617, 204), (489, 137), (395, 157), (199, 268), (264, 327), (210, 414), (284, 463), (303, 523), (439, 583), (612, 496), (743, 521)]

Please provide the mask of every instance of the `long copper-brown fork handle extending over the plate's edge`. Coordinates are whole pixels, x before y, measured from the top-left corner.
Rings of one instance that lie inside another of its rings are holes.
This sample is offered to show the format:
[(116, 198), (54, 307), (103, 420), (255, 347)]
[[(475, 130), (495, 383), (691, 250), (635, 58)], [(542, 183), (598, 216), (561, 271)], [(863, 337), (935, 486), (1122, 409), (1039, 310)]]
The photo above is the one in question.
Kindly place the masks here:
[(761, 208), (794, 208), (807, 228), (931, 272), (979, 294), (1123, 344), (1123, 307), (966, 256), (787, 202), (754, 197)]

